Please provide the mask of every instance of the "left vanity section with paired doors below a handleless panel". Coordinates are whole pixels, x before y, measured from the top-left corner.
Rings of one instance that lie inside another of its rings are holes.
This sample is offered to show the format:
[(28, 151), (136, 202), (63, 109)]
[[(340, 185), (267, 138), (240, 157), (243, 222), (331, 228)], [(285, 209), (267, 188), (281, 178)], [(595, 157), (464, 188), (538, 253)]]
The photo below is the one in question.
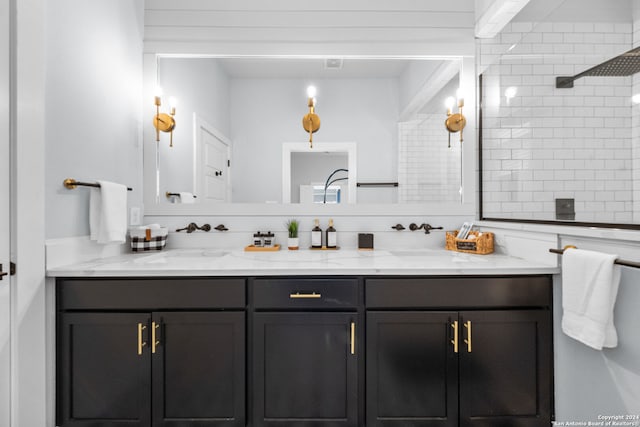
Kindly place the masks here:
[(245, 425), (244, 280), (69, 279), (57, 298), (58, 425)]

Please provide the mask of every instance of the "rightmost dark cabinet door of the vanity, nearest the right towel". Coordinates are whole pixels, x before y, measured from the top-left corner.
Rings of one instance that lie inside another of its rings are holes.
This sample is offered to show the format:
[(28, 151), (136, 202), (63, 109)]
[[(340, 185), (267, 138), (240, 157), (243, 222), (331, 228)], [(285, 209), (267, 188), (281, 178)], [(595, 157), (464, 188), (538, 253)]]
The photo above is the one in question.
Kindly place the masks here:
[(460, 426), (549, 426), (549, 311), (461, 312), (460, 322)]

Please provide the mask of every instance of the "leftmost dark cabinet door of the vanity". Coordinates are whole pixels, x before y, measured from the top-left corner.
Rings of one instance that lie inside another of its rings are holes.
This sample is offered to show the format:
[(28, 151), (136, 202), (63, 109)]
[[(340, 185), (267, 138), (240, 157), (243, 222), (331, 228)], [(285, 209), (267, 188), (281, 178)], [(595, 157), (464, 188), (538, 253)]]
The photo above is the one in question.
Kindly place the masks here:
[[(62, 426), (147, 427), (151, 422), (148, 314), (62, 314)], [(145, 329), (142, 330), (142, 327)]]

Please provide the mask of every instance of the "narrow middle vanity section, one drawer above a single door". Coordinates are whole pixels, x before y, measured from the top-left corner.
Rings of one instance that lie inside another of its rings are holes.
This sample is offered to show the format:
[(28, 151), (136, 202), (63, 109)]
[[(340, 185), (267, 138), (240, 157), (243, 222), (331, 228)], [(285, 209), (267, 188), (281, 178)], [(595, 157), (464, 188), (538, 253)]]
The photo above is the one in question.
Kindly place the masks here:
[(253, 426), (357, 426), (357, 279), (257, 279)]

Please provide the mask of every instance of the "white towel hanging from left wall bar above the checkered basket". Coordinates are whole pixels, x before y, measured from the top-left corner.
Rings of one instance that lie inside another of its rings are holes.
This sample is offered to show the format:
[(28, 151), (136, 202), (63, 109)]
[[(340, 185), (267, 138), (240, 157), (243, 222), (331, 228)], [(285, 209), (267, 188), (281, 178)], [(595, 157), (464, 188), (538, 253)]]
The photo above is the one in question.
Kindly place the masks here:
[(127, 235), (127, 187), (98, 181), (91, 189), (89, 229), (98, 243), (124, 243)]

